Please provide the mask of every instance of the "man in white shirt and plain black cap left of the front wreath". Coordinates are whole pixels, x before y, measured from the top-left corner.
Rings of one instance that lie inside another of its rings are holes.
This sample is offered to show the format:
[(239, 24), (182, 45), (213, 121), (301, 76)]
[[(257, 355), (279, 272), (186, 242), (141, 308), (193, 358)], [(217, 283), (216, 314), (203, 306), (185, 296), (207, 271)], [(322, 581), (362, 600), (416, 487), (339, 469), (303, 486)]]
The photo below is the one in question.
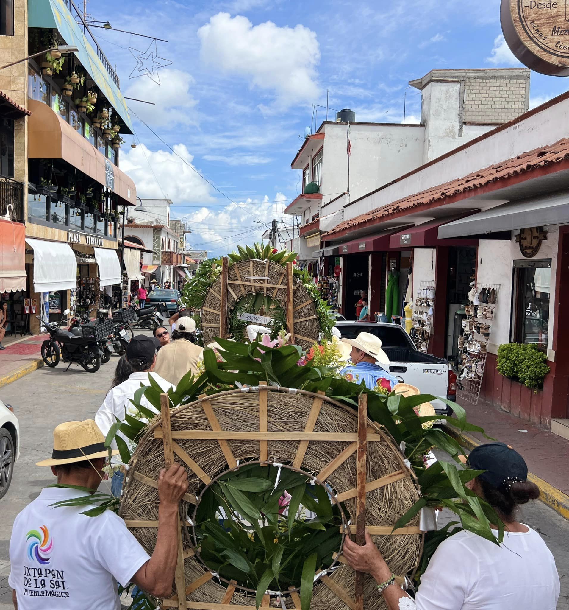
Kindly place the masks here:
[[(135, 409), (130, 402), (130, 399), (135, 397), (135, 392), (140, 388), (141, 384), (144, 386), (150, 385), (148, 375), (152, 375), (154, 381), (157, 382), (158, 386), (160, 386), (164, 392), (168, 392), (171, 387), (175, 390), (175, 386), (162, 379), (157, 373), (152, 372), (154, 365), (156, 364), (156, 351), (159, 345), (160, 341), (158, 341), (158, 339), (155, 337), (146, 337), (145, 335), (136, 335), (136, 337), (133, 337), (130, 340), (129, 345), (127, 346), (126, 357), (127, 362), (129, 362), (134, 372), (130, 374), (126, 381), (113, 387), (107, 393), (103, 404), (95, 414), (97, 426), (99, 426), (101, 432), (105, 436), (107, 436), (108, 431), (116, 422), (117, 418), (121, 420), (121, 422), (124, 422), (125, 414), (128, 410)], [(145, 397), (141, 398), (141, 404), (147, 409), (150, 409), (150, 411), (158, 413)], [(127, 440), (121, 432), (118, 432), (118, 434), (120, 434), (124, 440)], [(116, 448), (116, 444), (113, 444), (113, 447)], [(117, 460), (117, 462), (119, 461)], [(111, 481), (113, 495), (121, 495), (123, 479), (124, 472), (119, 471), (113, 475), (113, 480)]]

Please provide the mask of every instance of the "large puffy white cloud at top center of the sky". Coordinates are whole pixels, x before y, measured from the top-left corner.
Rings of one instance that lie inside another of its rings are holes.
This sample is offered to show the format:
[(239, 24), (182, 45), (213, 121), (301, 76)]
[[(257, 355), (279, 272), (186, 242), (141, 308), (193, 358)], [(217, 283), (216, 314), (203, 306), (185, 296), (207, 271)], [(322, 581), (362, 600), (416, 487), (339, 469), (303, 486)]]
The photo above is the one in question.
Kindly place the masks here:
[(278, 27), (272, 21), (253, 26), (244, 16), (218, 13), (197, 35), (203, 62), (246, 77), (252, 87), (274, 91), (281, 105), (317, 99), (320, 48), (308, 27)]

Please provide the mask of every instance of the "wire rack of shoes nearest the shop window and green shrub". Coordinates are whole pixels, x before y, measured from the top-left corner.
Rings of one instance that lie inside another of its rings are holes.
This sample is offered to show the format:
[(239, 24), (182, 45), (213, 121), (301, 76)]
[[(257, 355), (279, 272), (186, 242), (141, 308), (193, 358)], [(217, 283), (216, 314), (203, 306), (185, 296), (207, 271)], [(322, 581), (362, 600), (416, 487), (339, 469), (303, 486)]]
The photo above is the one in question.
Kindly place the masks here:
[(478, 404), (499, 290), (500, 284), (475, 284), (464, 307), (456, 396), (468, 403)]

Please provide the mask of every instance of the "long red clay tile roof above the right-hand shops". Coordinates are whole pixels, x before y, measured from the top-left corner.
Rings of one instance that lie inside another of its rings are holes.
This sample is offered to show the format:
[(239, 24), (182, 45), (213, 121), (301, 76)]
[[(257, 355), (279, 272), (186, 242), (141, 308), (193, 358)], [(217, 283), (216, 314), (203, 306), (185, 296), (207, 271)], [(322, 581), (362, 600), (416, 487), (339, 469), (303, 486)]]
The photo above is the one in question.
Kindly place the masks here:
[[(464, 176), (464, 178), (457, 178), (456, 180), (445, 182), (445, 184), (428, 188), (415, 195), (403, 197), (385, 206), (377, 207), (370, 212), (350, 218), (350, 220), (345, 220), (331, 231), (325, 233), (322, 237), (325, 240), (331, 239), (339, 233), (347, 233), (348, 229), (354, 229), (356, 227), (361, 228), (364, 225), (379, 224), (381, 220), (384, 220), (387, 217), (402, 215), (401, 212), (411, 213), (416, 208), (427, 206), (428, 204), (440, 202), (439, 204), (443, 205), (445, 203), (450, 203), (450, 201), (446, 200), (453, 198), (454, 201), (457, 196), (459, 199), (465, 199), (468, 196), (476, 195), (477, 193), (475, 191), (477, 189), (486, 187), (489, 184), (499, 182), (512, 176), (528, 174), (532, 170), (543, 168), (546, 165), (551, 165), (553, 163), (559, 163), (567, 159), (569, 159), (569, 138), (564, 138), (549, 146), (535, 148), (534, 150), (524, 152), (513, 159), (495, 163), (495, 165), (490, 165), (490, 167), (486, 167), (483, 170), (468, 174), (467, 176)], [(529, 178), (531, 178), (531, 176), (524, 176), (520, 179), (520, 182)], [(497, 185), (497, 187), (499, 188), (500, 186)], [(472, 193), (468, 193), (469, 191)]]

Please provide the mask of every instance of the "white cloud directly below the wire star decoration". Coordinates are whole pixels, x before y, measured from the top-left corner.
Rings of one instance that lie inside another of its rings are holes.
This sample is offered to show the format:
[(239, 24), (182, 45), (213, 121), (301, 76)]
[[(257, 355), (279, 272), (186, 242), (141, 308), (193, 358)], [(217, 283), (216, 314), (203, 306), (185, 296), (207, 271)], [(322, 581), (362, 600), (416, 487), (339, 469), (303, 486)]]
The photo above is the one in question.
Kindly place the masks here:
[(160, 70), (160, 85), (152, 79), (141, 76), (133, 79), (125, 90), (129, 98), (142, 99), (150, 104), (140, 104), (127, 100), (136, 114), (151, 127), (174, 127), (178, 124), (196, 125), (197, 116), (194, 111), (197, 100), (191, 95), (190, 88), (194, 84), (191, 74), (173, 68)]

